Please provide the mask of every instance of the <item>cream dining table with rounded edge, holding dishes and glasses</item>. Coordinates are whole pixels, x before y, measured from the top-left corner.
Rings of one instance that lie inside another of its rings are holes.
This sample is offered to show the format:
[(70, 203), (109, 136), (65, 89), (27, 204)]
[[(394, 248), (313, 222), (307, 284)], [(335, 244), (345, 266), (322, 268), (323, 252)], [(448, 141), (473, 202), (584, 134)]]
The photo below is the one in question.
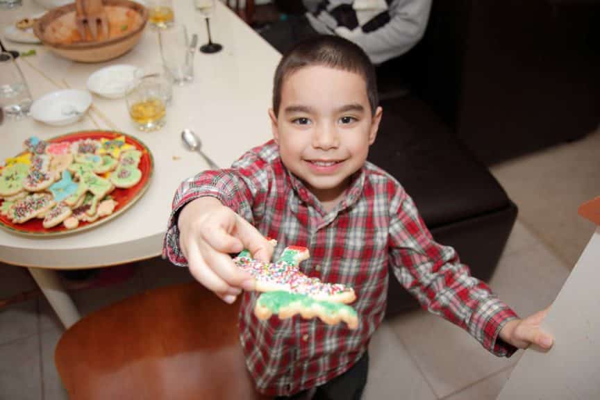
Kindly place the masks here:
[[(174, 86), (167, 107), (166, 124), (157, 131), (138, 131), (128, 115), (125, 99), (93, 95), (92, 106), (78, 122), (49, 126), (31, 117), (0, 124), (0, 163), (23, 151), (23, 143), (78, 131), (118, 131), (144, 143), (153, 156), (153, 174), (147, 190), (124, 213), (81, 232), (60, 236), (30, 237), (0, 229), (0, 261), (26, 267), (66, 328), (80, 315), (58, 270), (110, 267), (160, 256), (172, 199), (178, 185), (208, 165), (199, 153), (187, 149), (181, 131), (190, 128), (201, 139), (202, 150), (219, 167), (228, 167), (244, 151), (271, 138), (268, 109), (272, 77), (281, 55), (253, 29), (217, 1), (210, 18), (213, 41), (222, 44), (218, 53), (194, 54), (194, 80)], [(203, 16), (193, 0), (173, 1), (176, 24), (184, 24), (198, 44), (208, 42)], [(65, 88), (87, 90), (93, 72), (108, 65), (161, 65), (158, 28), (147, 25), (138, 44), (119, 58), (103, 63), (76, 63), (57, 56), (42, 44), (11, 42), (6, 26), (39, 15), (44, 8), (33, 0), (0, 12), (0, 37), (8, 49), (34, 55), (16, 63), (33, 100)], [(1, 267), (1, 265), (0, 265)]]

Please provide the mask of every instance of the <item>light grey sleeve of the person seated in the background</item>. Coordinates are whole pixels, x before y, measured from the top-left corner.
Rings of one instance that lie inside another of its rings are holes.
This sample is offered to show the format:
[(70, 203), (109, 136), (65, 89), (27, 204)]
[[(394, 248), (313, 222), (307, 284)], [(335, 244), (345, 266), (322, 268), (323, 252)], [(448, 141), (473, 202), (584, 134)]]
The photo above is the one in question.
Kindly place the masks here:
[(335, 33), (362, 47), (372, 63), (380, 64), (410, 50), (425, 33), (431, 0), (394, 0), (390, 21), (370, 32), (338, 28)]

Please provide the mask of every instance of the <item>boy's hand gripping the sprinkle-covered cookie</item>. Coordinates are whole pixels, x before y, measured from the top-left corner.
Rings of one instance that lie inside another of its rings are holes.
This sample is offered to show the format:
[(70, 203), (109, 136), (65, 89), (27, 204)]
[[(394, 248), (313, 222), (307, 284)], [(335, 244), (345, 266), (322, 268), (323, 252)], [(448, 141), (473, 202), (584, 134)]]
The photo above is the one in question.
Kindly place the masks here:
[(190, 273), (227, 303), (242, 289), (253, 290), (250, 274), (242, 272), (230, 253), (248, 249), (254, 258), (269, 262), (273, 245), (245, 219), (213, 197), (186, 204), (179, 213), (179, 245)]

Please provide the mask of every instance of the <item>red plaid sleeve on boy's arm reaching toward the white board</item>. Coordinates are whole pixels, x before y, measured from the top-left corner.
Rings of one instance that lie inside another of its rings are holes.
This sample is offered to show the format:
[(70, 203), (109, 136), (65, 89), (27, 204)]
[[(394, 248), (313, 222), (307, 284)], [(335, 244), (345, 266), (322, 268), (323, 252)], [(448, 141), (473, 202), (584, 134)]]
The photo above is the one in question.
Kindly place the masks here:
[(452, 247), (437, 244), (415, 203), (399, 190), (390, 208), (390, 248), (394, 274), (423, 308), (460, 326), (496, 356), (517, 349), (498, 337), (517, 315), (470, 275)]

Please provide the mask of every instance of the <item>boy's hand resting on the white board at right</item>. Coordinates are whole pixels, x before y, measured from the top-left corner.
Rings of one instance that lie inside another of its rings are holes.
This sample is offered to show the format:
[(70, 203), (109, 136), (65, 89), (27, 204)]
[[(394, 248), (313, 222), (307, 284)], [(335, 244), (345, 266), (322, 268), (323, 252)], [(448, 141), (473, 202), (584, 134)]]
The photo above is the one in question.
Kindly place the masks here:
[(499, 333), (500, 338), (519, 349), (526, 349), (532, 343), (542, 349), (550, 349), (554, 339), (540, 328), (549, 310), (550, 307), (547, 307), (525, 319), (507, 322)]

